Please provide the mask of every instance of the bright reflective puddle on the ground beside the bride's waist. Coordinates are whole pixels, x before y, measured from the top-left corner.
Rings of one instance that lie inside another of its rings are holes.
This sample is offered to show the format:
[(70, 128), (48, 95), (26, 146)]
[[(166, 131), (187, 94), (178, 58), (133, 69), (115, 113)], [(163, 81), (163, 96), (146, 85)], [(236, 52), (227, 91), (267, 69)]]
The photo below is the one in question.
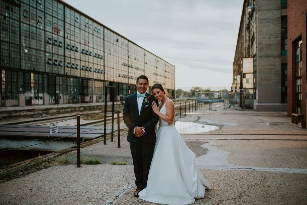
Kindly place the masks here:
[(207, 124), (199, 124), (194, 122), (175, 122), (175, 127), (180, 134), (193, 134), (193, 133), (203, 133), (210, 132), (218, 129), (218, 126), (207, 125)]

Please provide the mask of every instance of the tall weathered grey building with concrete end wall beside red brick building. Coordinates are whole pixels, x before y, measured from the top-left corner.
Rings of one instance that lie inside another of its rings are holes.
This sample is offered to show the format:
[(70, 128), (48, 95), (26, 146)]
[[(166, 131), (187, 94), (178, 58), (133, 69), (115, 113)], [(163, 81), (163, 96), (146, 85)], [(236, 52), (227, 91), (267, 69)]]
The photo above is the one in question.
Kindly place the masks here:
[(287, 110), (287, 1), (244, 0), (233, 62), (240, 107)]

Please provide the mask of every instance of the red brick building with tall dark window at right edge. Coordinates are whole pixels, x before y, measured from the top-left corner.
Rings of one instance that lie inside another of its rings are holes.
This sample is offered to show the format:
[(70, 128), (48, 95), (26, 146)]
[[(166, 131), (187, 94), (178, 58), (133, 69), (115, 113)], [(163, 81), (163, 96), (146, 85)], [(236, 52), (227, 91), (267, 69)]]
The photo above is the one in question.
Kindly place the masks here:
[(307, 1), (288, 0), (288, 115), (304, 115), (306, 121), (306, 25)]

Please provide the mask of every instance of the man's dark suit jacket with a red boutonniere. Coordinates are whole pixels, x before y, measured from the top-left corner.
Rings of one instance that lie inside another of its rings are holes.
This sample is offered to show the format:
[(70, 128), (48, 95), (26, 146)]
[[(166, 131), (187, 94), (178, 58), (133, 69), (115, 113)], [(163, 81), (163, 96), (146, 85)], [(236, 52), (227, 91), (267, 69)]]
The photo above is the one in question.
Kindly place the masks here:
[[(151, 104), (158, 101), (153, 95), (146, 92), (146, 97), (150, 96), (149, 102), (146, 103), (145, 98), (142, 103), (140, 115), (138, 114), (138, 101), (137, 93), (129, 95), (125, 98), (124, 109), (122, 116), (124, 123), (129, 128), (127, 141), (137, 142), (142, 140), (143, 143), (155, 143), (156, 142), (156, 131), (155, 126), (159, 121), (159, 116), (153, 112)], [(148, 106), (146, 106), (148, 105)], [(135, 137), (133, 130), (135, 127), (144, 127), (145, 133), (141, 137)]]

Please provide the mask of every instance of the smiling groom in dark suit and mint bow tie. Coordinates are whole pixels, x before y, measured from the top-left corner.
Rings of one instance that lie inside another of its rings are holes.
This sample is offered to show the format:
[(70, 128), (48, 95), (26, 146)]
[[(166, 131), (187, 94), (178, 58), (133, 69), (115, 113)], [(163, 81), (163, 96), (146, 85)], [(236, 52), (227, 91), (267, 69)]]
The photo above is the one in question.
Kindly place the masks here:
[(146, 93), (148, 78), (141, 75), (135, 83), (138, 91), (125, 99), (122, 116), (129, 128), (127, 141), (130, 142), (130, 151), (133, 160), (135, 184), (134, 196), (147, 186), (147, 179), (153, 150), (156, 142), (155, 125), (159, 117), (152, 110), (151, 104), (158, 101), (153, 95)]

